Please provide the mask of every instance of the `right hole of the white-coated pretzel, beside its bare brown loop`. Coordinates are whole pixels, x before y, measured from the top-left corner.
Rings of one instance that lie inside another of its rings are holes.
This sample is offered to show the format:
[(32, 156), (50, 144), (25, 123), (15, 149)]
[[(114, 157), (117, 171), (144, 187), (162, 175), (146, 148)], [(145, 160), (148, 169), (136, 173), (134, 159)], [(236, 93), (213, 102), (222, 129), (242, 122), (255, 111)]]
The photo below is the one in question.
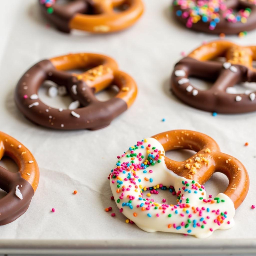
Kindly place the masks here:
[(228, 184), (229, 180), (225, 174), (219, 172), (214, 173), (211, 178), (204, 184), (207, 197), (209, 197), (209, 195), (214, 197), (221, 192), (223, 193), (228, 187)]

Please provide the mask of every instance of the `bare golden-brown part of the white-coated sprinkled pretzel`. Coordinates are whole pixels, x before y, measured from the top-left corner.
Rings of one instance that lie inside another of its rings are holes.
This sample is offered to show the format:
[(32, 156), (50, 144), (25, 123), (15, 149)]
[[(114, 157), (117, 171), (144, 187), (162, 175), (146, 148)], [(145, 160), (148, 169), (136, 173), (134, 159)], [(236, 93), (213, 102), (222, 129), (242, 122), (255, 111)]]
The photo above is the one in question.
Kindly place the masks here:
[(190, 149), (197, 153), (183, 162), (165, 156), (168, 169), (179, 176), (204, 184), (215, 172), (225, 174), (229, 185), (224, 192), (238, 208), (249, 189), (249, 176), (244, 165), (236, 158), (220, 152), (218, 144), (209, 136), (187, 130), (174, 130), (152, 136), (165, 151)]

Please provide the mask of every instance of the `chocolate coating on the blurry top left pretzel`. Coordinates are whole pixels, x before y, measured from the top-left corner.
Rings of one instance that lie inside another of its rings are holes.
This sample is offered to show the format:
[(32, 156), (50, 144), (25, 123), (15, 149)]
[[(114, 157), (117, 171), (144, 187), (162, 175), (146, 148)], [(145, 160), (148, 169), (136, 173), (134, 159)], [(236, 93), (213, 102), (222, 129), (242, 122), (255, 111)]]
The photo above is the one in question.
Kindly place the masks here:
[[(39, 0), (40, 1), (40, 0)], [(92, 7), (89, 0), (75, 0), (66, 5), (53, 4), (54, 13), (49, 14), (44, 4), (39, 4), (42, 14), (59, 30), (70, 32), (69, 22), (77, 13), (90, 14)]]

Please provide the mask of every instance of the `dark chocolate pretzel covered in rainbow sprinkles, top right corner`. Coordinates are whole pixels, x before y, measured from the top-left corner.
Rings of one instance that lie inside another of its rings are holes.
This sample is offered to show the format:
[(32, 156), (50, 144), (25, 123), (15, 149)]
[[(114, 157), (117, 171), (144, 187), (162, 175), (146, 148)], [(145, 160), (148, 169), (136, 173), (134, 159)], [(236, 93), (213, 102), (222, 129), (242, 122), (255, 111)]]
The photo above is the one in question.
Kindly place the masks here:
[(256, 28), (255, 0), (174, 0), (176, 19), (198, 31), (238, 34)]

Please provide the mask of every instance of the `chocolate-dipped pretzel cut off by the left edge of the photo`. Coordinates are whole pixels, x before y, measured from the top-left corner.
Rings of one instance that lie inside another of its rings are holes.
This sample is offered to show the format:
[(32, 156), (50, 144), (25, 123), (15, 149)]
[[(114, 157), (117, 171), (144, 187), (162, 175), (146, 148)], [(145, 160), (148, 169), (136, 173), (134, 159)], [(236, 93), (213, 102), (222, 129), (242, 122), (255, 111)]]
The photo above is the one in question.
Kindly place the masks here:
[(29, 150), (9, 135), (0, 132), (0, 159), (12, 158), (19, 172), (0, 166), (0, 188), (8, 194), (0, 199), (0, 225), (16, 220), (28, 209), (38, 186), (39, 169)]

